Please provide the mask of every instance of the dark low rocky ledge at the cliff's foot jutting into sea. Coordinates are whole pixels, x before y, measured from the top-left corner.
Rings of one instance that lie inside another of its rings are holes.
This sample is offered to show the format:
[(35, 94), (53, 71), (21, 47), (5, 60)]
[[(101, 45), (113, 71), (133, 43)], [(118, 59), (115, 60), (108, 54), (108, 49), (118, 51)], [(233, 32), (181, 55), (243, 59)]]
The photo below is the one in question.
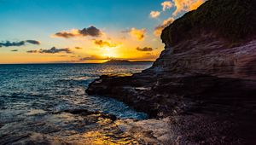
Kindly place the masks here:
[(164, 144), (254, 143), (255, 81), (202, 74), (153, 80), (143, 73), (102, 76), (87, 93), (116, 98), (150, 118), (171, 119), (170, 131), (176, 136)]

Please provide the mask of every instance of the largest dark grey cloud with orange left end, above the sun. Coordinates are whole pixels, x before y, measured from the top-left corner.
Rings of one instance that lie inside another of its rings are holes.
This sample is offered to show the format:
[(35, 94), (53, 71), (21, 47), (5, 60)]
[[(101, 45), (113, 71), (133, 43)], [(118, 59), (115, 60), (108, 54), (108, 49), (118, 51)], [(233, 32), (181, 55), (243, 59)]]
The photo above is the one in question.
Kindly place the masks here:
[(74, 38), (74, 37), (100, 37), (102, 36), (102, 31), (96, 28), (95, 26), (90, 26), (82, 30), (72, 29), (70, 31), (56, 32), (54, 37), (58, 38)]

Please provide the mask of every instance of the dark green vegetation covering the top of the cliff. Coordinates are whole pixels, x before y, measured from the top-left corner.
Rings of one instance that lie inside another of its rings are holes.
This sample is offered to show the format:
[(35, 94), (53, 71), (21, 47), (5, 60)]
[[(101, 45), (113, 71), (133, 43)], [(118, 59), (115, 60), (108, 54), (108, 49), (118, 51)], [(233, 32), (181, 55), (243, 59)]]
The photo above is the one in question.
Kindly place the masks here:
[(209, 0), (167, 26), (161, 38), (164, 43), (175, 45), (202, 32), (210, 32), (231, 42), (255, 36), (256, 1)]

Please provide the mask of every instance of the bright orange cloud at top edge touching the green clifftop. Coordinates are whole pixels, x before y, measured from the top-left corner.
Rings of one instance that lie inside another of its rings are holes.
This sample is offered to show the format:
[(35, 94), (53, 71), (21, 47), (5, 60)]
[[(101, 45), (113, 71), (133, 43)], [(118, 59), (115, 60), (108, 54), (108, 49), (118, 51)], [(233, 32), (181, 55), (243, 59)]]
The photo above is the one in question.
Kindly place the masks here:
[(173, 15), (177, 15), (181, 12), (188, 12), (190, 10), (197, 9), (206, 0), (173, 0), (176, 10)]

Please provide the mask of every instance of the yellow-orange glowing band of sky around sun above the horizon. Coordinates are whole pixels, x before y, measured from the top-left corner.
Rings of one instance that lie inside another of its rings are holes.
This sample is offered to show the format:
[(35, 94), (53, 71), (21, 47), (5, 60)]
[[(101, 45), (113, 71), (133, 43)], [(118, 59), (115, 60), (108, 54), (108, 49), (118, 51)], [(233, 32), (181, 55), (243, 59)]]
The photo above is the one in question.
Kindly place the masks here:
[[(109, 39), (109, 38), (111, 39)], [(145, 38), (143, 41), (137, 41), (134, 38), (122, 38), (120, 34), (108, 33), (108, 37), (99, 38), (102, 42), (109, 42), (108, 45), (97, 45), (95, 39), (88, 38), (74, 38), (74, 39), (54, 39), (57, 44), (57, 49), (69, 48), (71, 53), (27, 53), (28, 50), (50, 49), (53, 44), (33, 47), (22, 48), (3, 48), (3, 52), (0, 54), (0, 64), (20, 64), (20, 63), (102, 63), (111, 59), (128, 60), (128, 61), (154, 61), (158, 58), (163, 44), (159, 43), (156, 47), (155, 42), (149, 38)], [(64, 42), (64, 43), (62, 43)], [(67, 43), (66, 43), (67, 42)], [(66, 44), (65, 44), (66, 43)], [(115, 45), (111, 45), (115, 44)], [(139, 51), (137, 47), (150, 47), (154, 48), (150, 51)], [(159, 49), (155, 49), (159, 48)], [(12, 49), (18, 49), (16, 52), (12, 52)]]

